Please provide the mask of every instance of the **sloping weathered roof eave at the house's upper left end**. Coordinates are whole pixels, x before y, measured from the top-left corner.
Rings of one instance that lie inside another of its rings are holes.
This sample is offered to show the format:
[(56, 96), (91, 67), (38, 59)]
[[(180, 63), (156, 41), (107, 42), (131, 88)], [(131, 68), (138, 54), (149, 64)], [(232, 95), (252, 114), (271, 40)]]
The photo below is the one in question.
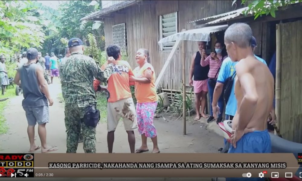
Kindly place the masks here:
[(93, 20), (95, 18), (101, 18), (101, 16), (104, 16), (104, 15), (106, 15), (108, 13), (111, 13), (111, 12), (114, 12), (114, 11), (126, 8), (126, 7), (131, 6), (131, 5), (135, 5), (136, 3), (141, 2), (141, 1), (142, 0), (123, 1), (123, 2), (117, 3), (115, 5), (109, 6), (108, 8), (104, 8), (104, 9), (102, 9), (100, 11), (97, 11), (97, 12), (94, 12), (92, 14), (89, 14), (89, 15), (83, 17), (81, 19), (81, 21), (83, 21), (83, 20), (88, 21), (88, 20)]

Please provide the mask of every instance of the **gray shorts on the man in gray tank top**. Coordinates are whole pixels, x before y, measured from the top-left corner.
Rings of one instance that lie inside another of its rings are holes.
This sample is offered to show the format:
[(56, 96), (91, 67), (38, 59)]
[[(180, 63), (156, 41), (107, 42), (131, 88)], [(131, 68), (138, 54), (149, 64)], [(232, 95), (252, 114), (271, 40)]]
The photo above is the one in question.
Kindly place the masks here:
[(44, 124), (49, 122), (49, 109), (48, 105), (40, 107), (23, 107), (28, 125), (34, 126), (37, 123)]

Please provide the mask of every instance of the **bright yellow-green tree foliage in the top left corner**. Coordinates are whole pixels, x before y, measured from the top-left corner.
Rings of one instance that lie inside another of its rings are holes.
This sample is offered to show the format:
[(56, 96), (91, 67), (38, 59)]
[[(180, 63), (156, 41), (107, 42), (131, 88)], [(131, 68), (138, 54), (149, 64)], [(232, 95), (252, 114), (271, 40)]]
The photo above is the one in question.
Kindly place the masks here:
[(36, 1), (0, 1), (0, 54), (11, 57), (29, 47), (41, 48), (44, 30), (57, 31), (59, 16)]

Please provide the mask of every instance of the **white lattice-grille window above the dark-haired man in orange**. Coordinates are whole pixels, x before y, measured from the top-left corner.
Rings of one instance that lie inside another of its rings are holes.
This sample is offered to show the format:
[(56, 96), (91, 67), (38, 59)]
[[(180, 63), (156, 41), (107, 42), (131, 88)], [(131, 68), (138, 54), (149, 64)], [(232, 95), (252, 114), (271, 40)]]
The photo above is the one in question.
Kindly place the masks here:
[(127, 34), (125, 23), (112, 26), (113, 44), (120, 46), (121, 52), (127, 51)]

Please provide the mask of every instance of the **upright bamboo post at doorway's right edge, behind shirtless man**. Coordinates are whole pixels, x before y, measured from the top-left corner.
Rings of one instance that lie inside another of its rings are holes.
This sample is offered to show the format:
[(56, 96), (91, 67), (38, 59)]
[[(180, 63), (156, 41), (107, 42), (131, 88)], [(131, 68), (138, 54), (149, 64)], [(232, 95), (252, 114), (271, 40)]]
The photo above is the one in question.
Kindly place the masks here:
[[(281, 118), (281, 24), (276, 24), (276, 119), (277, 127), (280, 129)], [(276, 134), (276, 132), (275, 132)]]

